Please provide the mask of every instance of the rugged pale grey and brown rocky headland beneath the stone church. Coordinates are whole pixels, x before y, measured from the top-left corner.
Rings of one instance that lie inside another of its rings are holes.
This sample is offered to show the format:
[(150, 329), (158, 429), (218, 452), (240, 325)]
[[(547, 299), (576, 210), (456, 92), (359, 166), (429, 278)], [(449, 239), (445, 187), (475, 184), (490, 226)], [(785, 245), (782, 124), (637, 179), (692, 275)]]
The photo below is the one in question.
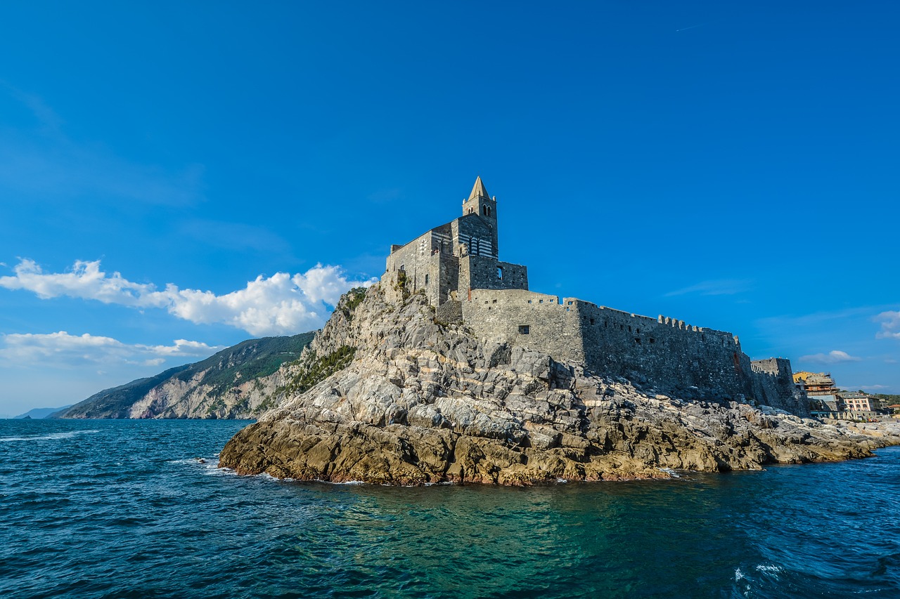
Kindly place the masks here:
[(685, 400), (437, 320), (401, 285), (347, 294), (279, 407), (220, 466), (276, 478), (529, 485), (661, 478), (845, 460), (900, 443), (900, 425), (823, 422), (750, 403)]

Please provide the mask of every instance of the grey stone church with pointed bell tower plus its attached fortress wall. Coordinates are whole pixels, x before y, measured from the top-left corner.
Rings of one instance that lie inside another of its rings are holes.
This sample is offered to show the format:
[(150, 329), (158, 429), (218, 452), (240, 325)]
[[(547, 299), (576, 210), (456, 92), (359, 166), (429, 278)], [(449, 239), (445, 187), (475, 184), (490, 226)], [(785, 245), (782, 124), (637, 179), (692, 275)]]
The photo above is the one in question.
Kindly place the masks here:
[(500, 213), (476, 179), (462, 216), (409, 243), (391, 246), (385, 288), (426, 295), (437, 320), (462, 322), (475, 335), (581, 362), (683, 398), (740, 400), (807, 414), (790, 362), (752, 362), (731, 333), (529, 291), (522, 264), (500, 261)]

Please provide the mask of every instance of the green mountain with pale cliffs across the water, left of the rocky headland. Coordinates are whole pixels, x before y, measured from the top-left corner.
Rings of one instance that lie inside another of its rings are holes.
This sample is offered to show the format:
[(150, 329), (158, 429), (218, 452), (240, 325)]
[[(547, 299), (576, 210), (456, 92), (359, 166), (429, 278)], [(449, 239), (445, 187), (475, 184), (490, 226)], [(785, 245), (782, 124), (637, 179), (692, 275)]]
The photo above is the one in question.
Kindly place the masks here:
[(56, 418), (253, 418), (275, 406), (284, 362), (315, 332), (249, 339), (193, 364), (104, 389)]

